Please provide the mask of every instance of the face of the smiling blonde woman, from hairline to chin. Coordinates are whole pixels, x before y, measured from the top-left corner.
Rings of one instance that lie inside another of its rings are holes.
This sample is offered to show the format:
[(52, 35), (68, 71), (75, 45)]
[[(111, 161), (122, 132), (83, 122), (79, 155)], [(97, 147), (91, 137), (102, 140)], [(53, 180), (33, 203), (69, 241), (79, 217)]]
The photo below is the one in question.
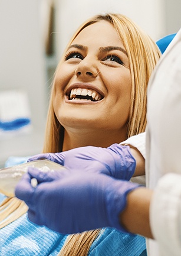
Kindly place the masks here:
[(71, 43), (55, 76), (54, 111), (65, 128), (127, 132), (131, 76), (113, 26), (99, 21)]

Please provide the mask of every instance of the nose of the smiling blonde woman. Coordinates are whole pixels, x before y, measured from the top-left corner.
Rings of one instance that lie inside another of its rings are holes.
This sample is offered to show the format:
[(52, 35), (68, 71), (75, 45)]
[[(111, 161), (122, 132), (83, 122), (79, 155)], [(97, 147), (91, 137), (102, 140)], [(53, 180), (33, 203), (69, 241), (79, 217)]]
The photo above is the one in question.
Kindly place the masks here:
[(85, 57), (78, 64), (77, 69), (75, 70), (75, 74), (77, 77), (96, 77), (98, 74), (96, 60), (90, 60)]

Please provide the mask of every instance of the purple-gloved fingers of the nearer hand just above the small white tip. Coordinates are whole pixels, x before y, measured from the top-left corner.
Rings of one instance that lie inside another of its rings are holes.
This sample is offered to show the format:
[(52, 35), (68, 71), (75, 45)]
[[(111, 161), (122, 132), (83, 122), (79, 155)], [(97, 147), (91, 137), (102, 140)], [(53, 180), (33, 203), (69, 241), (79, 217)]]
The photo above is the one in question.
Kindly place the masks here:
[[(67, 171), (67, 170), (66, 170)], [(28, 174), (31, 179), (36, 179), (38, 184), (42, 182), (52, 182), (53, 180), (61, 179), (64, 176), (64, 170), (60, 169), (60, 171), (40, 171), (38, 168), (29, 167)]]

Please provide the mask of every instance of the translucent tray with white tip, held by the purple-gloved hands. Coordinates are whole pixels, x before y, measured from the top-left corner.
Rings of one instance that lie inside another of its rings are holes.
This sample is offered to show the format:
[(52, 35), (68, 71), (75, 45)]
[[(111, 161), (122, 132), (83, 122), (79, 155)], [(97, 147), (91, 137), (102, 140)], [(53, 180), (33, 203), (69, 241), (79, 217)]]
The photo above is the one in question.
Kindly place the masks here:
[[(54, 163), (50, 160), (36, 160), (17, 166), (0, 169), (0, 193), (8, 197), (15, 196), (15, 187), (17, 186), (21, 177), (27, 173), (28, 167), (36, 167), (40, 171), (60, 171), (66, 170), (64, 166)], [(31, 180), (32, 186), (37, 185), (37, 180)]]

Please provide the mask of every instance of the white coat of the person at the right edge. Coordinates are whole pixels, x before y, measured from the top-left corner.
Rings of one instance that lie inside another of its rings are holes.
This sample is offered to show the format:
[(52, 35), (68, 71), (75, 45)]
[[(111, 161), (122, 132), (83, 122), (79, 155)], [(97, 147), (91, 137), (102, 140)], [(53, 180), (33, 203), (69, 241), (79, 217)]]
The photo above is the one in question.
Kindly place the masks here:
[(181, 29), (149, 82), (146, 132), (146, 184), (154, 189), (150, 206), (153, 236), (149, 256), (181, 255)]

